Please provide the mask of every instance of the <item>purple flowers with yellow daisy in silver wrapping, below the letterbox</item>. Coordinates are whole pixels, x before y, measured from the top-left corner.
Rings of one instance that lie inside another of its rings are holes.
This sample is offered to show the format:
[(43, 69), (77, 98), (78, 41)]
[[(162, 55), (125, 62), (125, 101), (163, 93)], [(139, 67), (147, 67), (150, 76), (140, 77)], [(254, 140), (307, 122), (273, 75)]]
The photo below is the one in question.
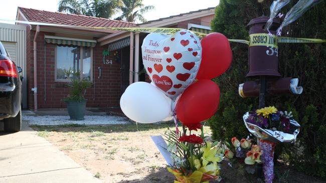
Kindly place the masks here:
[[(270, 183), (274, 178), (274, 149), (276, 142), (293, 142), (299, 133), (299, 123), (293, 119), (292, 112), (279, 111), (274, 106), (257, 109), (243, 115), (244, 123), (253, 135), (259, 139), (263, 151), (263, 170), (265, 182)], [(248, 153), (250, 155), (251, 153)], [(251, 160), (254, 160), (252, 156)], [(247, 162), (250, 160), (246, 157)]]

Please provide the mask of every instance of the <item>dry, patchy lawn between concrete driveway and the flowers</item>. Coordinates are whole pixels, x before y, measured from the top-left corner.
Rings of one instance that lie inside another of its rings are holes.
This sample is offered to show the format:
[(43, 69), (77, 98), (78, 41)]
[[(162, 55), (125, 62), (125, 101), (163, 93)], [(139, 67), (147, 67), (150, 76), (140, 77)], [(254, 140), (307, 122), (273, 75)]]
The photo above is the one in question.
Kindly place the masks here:
[[(38, 135), (104, 182), (172, 182), (166, 162), (152, 142), (174, 123), (112, 125), (31, 125)], [(209, 133), (209, 127), (205, 127)]]

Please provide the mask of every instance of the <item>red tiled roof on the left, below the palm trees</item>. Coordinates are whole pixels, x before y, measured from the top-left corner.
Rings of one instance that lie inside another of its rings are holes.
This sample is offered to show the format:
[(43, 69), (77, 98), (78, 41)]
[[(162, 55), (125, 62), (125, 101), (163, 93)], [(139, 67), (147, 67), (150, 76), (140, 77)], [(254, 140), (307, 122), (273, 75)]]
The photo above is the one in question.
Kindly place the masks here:
[(51, 12), (32, 8), (18, 7), (28, 21), (76, 25), (76, 26), (99, 26), (99, 27), (130, 27), (136, 23), (118, 21), (107, 18), (69, 14), (63, 12)]

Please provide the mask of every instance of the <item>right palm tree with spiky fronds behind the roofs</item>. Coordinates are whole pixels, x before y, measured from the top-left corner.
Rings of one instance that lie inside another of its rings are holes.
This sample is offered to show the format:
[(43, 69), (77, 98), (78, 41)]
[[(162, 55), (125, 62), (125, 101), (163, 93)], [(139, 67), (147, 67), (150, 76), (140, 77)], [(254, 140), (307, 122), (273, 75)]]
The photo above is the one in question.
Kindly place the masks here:
[(122, 14), (116, 18), (117, 20), (134, 22), (138, 19), (145, 22), (147, 20), (144, 18), (143, 13), (154, 9), (154, 6), (144, 6), (142, 0), (122, 0), (122, 5), (119, 6), (119, 9), (122, 11)]

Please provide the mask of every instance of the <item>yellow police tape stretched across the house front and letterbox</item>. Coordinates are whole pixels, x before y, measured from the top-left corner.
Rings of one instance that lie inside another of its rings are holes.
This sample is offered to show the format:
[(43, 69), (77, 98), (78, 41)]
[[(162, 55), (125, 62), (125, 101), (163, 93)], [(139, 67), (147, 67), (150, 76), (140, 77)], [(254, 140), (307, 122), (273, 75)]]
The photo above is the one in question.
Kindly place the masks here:
[[(94, 28), (94, 29), (104, 29), (104, 30), (124, 30), (124, 31), (134, 31), (134, 32), (156, 32), (156, 33), (164, 33), (164, 34), (174, 34), (181, 29), (184, 28), (165, 28), (165, 27), (96, 27), (96, 26), (74, 26), (74, 25), (63, 25), (63, 24), (53, 24), (53, 23), (43, 23), (43, 22), (35, 22), (35, 21), (21, 21), (21, 20), (8, 20), (8, 19), (0, 19), (0, 21), (8, 21), (15, 23), (26, 23), (26, 24), (34, 24), (34, 25), (49, 25), (49, 26), (62, 26), (62, 27), (81, 27), (81, 28)], [(207, 34), (202, 32), (193, 31), (198, 37), (204, 37)], [(259, 34), (259, 35), (258, 35)], [(266, 45), (277, 47), (277, 43), (323, 43), (326, 42), (326, 39), (315, 39), (315, 38), (296, 38), (296, 37), (276, 37), (275, 35), (271, 37), (265, 33), (251, 34), (250, 41), (243, 39), (229, 39), (231, 42), (239, 42), (245, 43), (249, 46), (256, 45)], [(257, 37), (255, 37), (257, 36)], [(263, 36), (263, 37), (258, 37)], [(274, 42), (276, 37), (276, 42)], [(265, 41), (266, 42), (261, 42)]]

